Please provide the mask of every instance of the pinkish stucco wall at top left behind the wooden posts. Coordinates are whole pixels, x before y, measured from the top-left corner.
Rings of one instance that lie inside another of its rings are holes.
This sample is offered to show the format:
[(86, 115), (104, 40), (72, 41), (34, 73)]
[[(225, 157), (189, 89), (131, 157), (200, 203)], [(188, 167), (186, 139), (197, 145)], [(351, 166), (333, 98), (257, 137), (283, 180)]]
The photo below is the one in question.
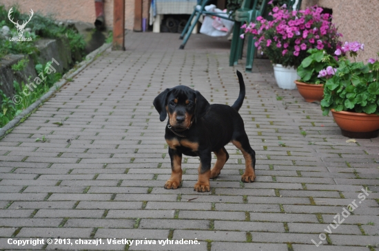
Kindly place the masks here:
[[(143, 0), (148, 2), (148, 0)], [(21, 12), (34, 12), (52, 14), (57, 20), (83, 21), (94, 23), (95, 8), (94, 0), (0, 0), (0, 4), (7, 9), (18, 5)], [(148, 6), (145, 3), (144, 7)], [(104, 0), (105, 25), (113, 25), (113, 0)], [(125, 28), (133, 29), (134, 23), (134, 0), (125, 0)]]

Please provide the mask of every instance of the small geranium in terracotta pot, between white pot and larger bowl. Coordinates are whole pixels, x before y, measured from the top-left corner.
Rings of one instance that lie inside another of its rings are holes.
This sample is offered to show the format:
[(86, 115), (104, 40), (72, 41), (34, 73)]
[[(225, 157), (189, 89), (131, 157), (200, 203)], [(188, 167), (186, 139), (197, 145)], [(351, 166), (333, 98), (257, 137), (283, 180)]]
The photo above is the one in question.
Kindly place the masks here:
[(337, 57), (327, 54), (325, 50), (309, 49), (307, 52), (310, 55), (298, 66), (300, 79), (295, 80), (295, 84), (305, 101), (321, 101), (324, 96), (324, 84), (328, 78), (334, 76), (338, 67)]

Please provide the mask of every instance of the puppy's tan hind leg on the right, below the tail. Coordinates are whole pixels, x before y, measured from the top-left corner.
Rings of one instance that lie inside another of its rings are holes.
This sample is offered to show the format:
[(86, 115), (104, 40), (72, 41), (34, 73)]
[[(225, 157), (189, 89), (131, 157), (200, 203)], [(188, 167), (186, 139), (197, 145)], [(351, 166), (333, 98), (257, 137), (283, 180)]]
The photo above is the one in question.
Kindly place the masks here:
[[(245, 173), (243, 173), (241, 177), (242, 182), (254, 182), (254, 179), (256, 178), (255, 175), (255, 152), (254, 150), (250, 147), (250, 145), (247, 142), (247, 147), (243, 147), (243, 143), (246, 144), (246, 142), (239, 142), (238, 140), (232, 140), (232, 143), (240, 149), (240, 151), (243, 154), (243, 157), (245, 158)], [(249, 151), (249, 153), (247, 152)]]

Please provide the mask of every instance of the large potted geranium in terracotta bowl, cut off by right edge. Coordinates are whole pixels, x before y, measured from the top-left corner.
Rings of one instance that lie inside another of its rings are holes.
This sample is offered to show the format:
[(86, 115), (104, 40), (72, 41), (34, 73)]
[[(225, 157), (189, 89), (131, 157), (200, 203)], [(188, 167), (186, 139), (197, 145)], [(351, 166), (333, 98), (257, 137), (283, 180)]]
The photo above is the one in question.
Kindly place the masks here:
[(373, 58), (367, 64), (356, 62), (363, 47), (358, 42), (346, 42), (336, 50), (336, 55), (349, 52), (354, 61), (340, 58), (336, 73), (325, 83), (321, 100), (322, 115), (331, 111), (342, 135), (349, 138), (376, 138), (379, 133), (379, 62)]

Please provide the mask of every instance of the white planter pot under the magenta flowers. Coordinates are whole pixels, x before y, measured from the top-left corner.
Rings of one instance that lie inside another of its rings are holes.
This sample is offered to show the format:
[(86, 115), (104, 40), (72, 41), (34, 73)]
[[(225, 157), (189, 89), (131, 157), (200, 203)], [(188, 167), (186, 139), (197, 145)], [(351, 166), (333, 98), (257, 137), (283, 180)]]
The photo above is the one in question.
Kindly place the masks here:
[(294, 67), (283, 67), (283, 65), (280, 64), (274, 64), (273, 66), (278, 87), (289, 90), (297, 89), (294, 81), (300, 79), (300, 77)]

